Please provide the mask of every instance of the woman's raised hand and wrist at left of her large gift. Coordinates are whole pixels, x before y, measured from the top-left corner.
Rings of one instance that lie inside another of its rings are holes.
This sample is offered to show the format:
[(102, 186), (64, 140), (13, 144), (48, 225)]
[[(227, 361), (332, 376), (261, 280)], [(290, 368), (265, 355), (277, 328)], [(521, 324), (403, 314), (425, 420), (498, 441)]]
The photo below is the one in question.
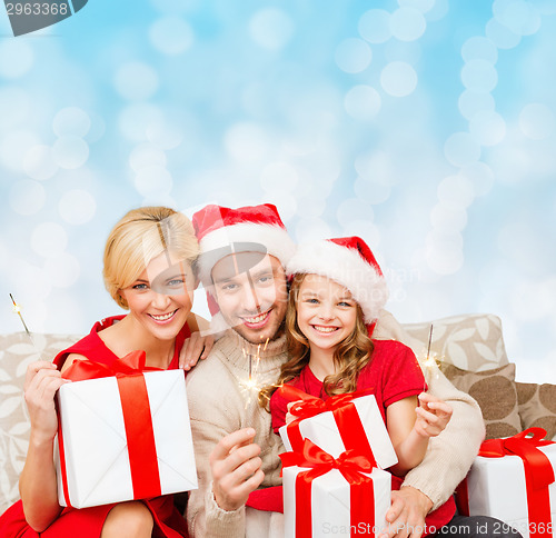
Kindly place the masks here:
[(38, 360), (27, 368), (24, 399), (31, 420), (31, 432), (37, 440), (51, 440), (58, 431), (54, 406), (56, 391), (69, 379), (63, 379), (52, 362)]

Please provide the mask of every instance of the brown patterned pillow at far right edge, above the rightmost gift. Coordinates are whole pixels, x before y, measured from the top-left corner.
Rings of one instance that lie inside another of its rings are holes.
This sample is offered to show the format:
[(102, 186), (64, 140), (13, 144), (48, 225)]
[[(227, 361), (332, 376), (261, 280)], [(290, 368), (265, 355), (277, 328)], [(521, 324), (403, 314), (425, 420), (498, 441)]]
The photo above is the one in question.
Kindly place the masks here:
[(543, 428), (546, 439), (556, 436), (556, 385), (516, 382), (523, 429)]

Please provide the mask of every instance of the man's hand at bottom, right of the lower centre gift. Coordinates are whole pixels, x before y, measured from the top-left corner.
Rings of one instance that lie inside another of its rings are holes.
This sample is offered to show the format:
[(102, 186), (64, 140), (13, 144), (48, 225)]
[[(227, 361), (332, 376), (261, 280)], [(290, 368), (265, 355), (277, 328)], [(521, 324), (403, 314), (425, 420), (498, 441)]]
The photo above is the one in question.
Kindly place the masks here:
[(391, 506), (386, 512), (387, 527), (379, 538), (420, 538), (425, 530), (425, 517), (433, 501), (410, 486), (391, 492)]

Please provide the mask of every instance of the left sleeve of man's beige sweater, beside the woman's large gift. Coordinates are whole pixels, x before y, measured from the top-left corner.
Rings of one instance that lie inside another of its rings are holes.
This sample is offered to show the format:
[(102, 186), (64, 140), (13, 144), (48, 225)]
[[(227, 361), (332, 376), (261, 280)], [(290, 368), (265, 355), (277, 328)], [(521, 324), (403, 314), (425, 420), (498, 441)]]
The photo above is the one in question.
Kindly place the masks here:
[[(187, 396), (191, 434), (197, 466), (198, 489), (190, 491), (187, 502), (189, 535), (193, 538), (227, 538), (245, 536), (245, 507), (234, 511), (222, 510), (212, 495), (212, 476), (209, 457), (215, 446), (237, 425), (228, 424), (225, 401), (218, 390), (219, 368), (210, 357), (187, 376)], [(210, 363), (211, 362), (211, 363)], [(222, 372), (220, 371), (220, 375)], [(222, 409), (224, 408), (224, 409)]]

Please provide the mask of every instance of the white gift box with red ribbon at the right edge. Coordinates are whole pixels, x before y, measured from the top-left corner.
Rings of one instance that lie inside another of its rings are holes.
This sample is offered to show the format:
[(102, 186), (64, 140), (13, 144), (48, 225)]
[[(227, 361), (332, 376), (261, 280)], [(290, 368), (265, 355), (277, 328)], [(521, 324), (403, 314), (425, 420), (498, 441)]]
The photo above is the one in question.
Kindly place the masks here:
[(483, 444), (457, 491), (464, 515), (492, 516), (524, 538), (556, 536), (556, 442), (529, 428)]

